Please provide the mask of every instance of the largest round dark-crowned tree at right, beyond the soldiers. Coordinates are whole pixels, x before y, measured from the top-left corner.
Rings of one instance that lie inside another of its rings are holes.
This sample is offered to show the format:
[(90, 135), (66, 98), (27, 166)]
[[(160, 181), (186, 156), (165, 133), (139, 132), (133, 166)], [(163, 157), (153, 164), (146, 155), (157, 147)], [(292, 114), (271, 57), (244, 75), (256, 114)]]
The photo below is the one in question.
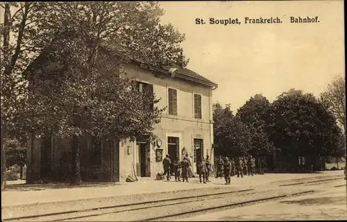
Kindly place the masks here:
[(315, 157), (329, 155), (337, 146), (335, 117), (312, 94), (295, 89), (281, 94), (271, 105), (270, 118), (266, 131), (282, 160), (306, 156), (314, 164)]

